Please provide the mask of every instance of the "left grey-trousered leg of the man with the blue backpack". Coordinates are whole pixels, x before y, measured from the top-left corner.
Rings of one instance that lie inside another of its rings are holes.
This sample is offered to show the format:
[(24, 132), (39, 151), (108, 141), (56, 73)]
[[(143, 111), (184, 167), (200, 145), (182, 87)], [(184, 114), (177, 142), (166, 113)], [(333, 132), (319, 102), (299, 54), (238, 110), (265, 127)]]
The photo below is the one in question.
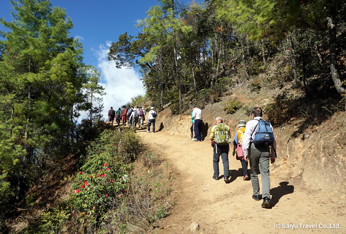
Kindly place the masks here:
[(260, 195), (260, 184), (258, 183), (258, 159), (260, 159), (261, 152), (258, 151), (254, 144), (251, 143), (249, 148), (250, 159), (250, 173), (253, 195)]

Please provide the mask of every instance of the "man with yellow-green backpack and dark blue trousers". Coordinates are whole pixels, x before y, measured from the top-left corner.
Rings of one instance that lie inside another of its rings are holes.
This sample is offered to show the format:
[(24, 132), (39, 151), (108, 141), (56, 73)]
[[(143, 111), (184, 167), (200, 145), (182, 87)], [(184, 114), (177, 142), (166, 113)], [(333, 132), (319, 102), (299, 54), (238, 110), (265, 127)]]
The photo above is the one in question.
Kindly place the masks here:
[(229, 127), (223, 124), (222, 118), (217, 117), (215, 119), (216, 125), (212, 127), (210, 133), (210, 140), (212, 147), (214, 148), (213, 154), (213, 168), (214, 168), (214, 180), (219, 180), (219, 161), (220, 155), (223, 164), (223, 181), (229, 183), (229, 162), (228, 162), (228, 152), (230, 140)]

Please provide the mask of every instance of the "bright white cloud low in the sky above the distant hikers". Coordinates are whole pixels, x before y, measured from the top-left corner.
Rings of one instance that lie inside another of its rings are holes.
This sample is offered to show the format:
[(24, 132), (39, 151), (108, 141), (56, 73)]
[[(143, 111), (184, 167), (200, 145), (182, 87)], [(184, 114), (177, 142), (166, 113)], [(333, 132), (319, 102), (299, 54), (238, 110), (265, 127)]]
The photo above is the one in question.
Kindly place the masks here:
[(114, 61), (108, 61), (108, 51), (111, 42), (101, 44), (95, 55), (98, 60), (97, 68), (101, 72), (101, 85), (105, 87), (103, 96), (103, 116), (108, 119), (108, 110), (112, 106), (117, 110), (121, 105), (131, 101), (132, 97), (144, 95), (140, 74), (134, 69), (116, 68)]

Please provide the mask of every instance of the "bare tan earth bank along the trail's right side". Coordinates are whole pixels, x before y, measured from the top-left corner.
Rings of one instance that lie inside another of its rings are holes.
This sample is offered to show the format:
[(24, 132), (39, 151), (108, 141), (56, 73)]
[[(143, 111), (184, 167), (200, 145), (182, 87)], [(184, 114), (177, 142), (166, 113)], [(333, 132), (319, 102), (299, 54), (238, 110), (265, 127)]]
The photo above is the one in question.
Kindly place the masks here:
[[(231, 98), (238, 98), (249, 109), (262, 107), (272, 102), (272, 96), (282, 92), (275, 89), (262, 89), (251, 93), (245, 85), (232, 90), (232, 94), (223, 100), (208, 104), (203, 110), (203, 137), (209, 141), (211, 127), (216, 116), (221, 116), (224, 123), (236, 132), (239, 120), (251, 120), (244, 109), (234, 114), (226, 114), (224, 103)], [(302, 95), (302, 94), (296, 94)], [(313, 108), (313, 107), (312, 107)], [(318, 111), (318, 110), (316, 110)], [(303, 111), (302, 111), (303, 112)], [(159, 113), (156, 125), (162, 131), (175, 135), (190, 135), (190, 111), (185, 114), (172, 115), (169, 108)], [(288, 123), (274, 126), (277, 140), (277, 162), (272, 170), (286, 175), (301, 177), (311, 189), (343, 192), (346, 190), (346, 113), (337, 112), (325, 116), (323, 120), (311, 120), (313, 116), (292, 118)], [(264, 115), (264, 119), (266, 116)], [(234, 135), (232, 136), (234, 137)]]

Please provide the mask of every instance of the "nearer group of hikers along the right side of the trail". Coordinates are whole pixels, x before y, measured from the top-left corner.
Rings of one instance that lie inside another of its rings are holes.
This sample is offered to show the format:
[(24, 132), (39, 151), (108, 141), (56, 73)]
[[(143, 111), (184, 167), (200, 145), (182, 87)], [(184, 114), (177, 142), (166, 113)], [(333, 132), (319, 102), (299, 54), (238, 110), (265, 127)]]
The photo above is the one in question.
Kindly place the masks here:
[[(201, 134), (201, 110), (196, 106), (191, 107), (191, 138), (194, 141), (203, 141)], [(247, 123), (239, 121), (238, 130), (232, 141), (230, 129), (223, 124), (221, 117), (215, 119), (215, 125), (211, 129), (210, 140), (214, 149), (213, 154), (213, 179), (219, 180), (220, 156), (223, 163), (223, 179), (225, 183), (229, 180), (228, 152), (229, 143), (233, 143), (233, 156), (240, 160), (243, 171), (243, 180), (249, 180), (247, 172), (248, 162), (250, 162), (250, 177), (253, 189), (252, 198), (261, 200), (260, 184), (258, 173), (262, 179), (262, 208), (270, 207), (270, 177), (269, 162), (274, 163), (276, 159), (276, 139), (272, 125), (262, 119), (263, 111), (260, 107), (255, 107), (251, 111), (252, 120)], [(195, 135), (193, 136), (193, 132)]]

